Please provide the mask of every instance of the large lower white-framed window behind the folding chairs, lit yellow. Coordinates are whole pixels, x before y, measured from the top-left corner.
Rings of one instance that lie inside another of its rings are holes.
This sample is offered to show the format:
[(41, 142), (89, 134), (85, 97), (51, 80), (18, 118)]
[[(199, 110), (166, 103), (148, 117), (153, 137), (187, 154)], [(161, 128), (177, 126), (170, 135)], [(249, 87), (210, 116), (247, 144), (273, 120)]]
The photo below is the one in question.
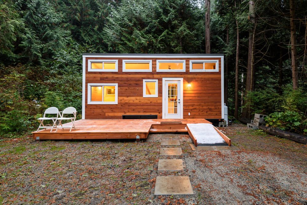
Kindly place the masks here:
[(118, 104), (117, 83), (88, 83), (87, 104)]

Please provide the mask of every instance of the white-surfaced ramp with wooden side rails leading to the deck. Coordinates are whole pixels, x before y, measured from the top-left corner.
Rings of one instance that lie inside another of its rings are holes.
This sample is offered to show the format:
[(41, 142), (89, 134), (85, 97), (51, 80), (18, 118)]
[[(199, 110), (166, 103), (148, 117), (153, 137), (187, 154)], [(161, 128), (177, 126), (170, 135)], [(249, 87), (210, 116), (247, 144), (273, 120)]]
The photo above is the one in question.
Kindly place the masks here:
[[(187, 129), (192, 140), (194, 138), (193, 143), (195, 146), (197, 145), (231, 146), (230, 139), (227, 136), (225, 136), (222, 132), (217, 130), (212, 124), (208, 123), (187, 124)], [(227, 140), (227, 142), (225, 140)]]

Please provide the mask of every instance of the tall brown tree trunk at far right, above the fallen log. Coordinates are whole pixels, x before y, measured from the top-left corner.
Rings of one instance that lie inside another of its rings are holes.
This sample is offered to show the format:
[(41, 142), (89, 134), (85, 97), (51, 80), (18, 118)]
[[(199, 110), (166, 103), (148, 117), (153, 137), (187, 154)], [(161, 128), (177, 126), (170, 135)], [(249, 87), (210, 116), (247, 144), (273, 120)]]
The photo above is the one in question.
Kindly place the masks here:
[(291, 67), (293, 89), (298, 88), (297, 73), (297, 50), (296, 50), (296, 28), (295, 28), (295, 0), (290, 0), (290, 33), (291, 33)]

